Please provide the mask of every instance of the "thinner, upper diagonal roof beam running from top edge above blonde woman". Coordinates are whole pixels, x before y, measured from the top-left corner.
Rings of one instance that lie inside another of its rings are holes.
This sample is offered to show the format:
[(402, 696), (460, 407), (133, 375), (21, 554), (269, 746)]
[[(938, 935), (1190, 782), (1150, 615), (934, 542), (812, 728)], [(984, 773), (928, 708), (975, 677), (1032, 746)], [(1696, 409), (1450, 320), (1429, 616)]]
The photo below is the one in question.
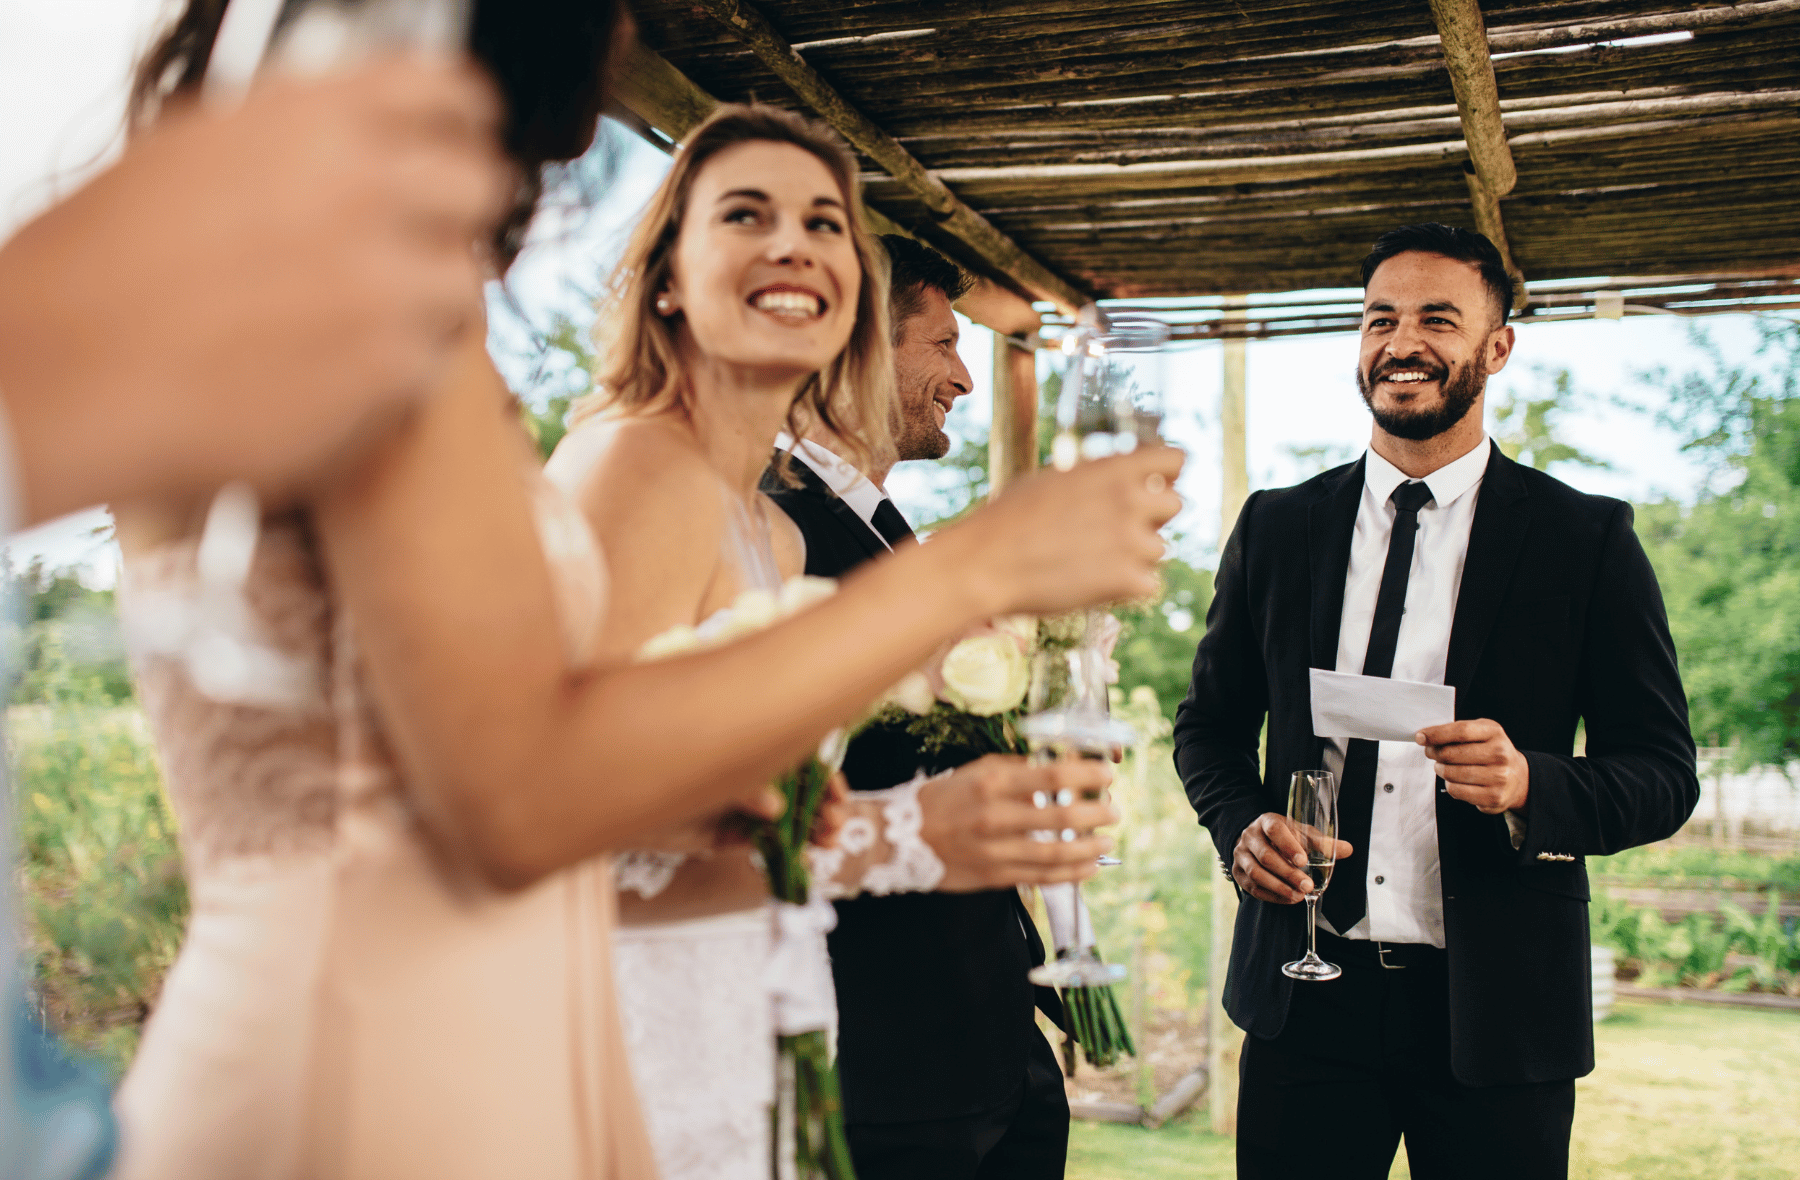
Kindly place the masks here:
[(1026, 286), (1069, 315), (1089, 302), (1087, 291), (1031, 257), (1019, 243), (965, 205), (938, 176), (913, 158), (913, 153), (902, 148), (900, 140), (869, 122), (869, 117), (851, 106), (817, 70), (806, 65), (806, 59), (794, 52), (752, 5), (743, 0), (698, 0), (698, 7), (731, 29), (803, 103), (837, 128), (857, 151), (880, 164), (914, 200), (925, 205), (931, 218), (947, 234), (965, 243), (997, 273)]

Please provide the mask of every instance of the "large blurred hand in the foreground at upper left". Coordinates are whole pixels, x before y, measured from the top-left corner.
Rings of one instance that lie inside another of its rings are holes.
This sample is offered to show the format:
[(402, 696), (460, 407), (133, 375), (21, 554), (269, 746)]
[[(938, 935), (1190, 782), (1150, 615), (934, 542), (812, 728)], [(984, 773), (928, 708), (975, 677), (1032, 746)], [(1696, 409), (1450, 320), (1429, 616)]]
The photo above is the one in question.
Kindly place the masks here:
[(517, 187), (468, 65), (392, 58), (166, 112), (0, 248), (27, 520), (292, 491), (428, 390), (481, 320)]

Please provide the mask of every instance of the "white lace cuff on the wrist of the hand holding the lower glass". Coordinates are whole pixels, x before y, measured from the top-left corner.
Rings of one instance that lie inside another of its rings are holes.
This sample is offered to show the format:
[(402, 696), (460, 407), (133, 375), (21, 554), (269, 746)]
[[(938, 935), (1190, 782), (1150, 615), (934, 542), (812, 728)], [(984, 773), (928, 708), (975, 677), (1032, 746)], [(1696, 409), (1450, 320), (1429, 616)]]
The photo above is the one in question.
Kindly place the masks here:
[(835, 901), (862, 892), (918, 894), (938, 887), (943, 862), (920, 836), (925, 811), (918, 791), (925, 782), (929, 779), (920, 773), (886, 791), (851, 795), (853, 815), (837, 833), (837, 844), (806, 849), (814, 896)]

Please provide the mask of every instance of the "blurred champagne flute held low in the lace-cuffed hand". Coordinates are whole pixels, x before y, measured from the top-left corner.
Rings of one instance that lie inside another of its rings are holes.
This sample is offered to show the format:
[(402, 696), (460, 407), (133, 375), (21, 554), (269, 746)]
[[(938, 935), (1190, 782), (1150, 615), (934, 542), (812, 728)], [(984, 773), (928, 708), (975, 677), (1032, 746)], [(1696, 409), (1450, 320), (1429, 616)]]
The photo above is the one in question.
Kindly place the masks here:
[[(1094, 648), (1039, 651), (1031, 660), (1030, 714), (1019, 721), (1033, 763), (1111, 761), (1112, 750), (1136, 739), (1136, 732), (1105, 712), (1105, 658)], [(1064, 793), (1058, 806), (1073, 802)], [(1048, 806), (1044, 799), (1039, 806)], [(1040, 840), (1075, 840), (1075, 829), (1037, 833)], [(1078, 881), (1044, 885), (1057, 959), (1031, 968), (1030, 979), (1044, 988), (1109, 988), (1125, 979), (1125, 968), (1103, 962), (1094, 950)]]

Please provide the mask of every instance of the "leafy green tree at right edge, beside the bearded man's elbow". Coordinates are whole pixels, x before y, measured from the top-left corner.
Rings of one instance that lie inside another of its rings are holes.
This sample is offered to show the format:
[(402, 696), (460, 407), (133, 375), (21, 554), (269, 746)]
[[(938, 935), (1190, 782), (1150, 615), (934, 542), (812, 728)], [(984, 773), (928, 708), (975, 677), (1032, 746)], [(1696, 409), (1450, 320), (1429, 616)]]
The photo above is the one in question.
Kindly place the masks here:
[(1705, 333), (1706, 371), (1647, 374), (1710, 487), (1638, 507), (1681, 657), (1694, 732), (1744, 764), (1800, 757), (1800, 326), (1766, 324), (1753, 367)]

